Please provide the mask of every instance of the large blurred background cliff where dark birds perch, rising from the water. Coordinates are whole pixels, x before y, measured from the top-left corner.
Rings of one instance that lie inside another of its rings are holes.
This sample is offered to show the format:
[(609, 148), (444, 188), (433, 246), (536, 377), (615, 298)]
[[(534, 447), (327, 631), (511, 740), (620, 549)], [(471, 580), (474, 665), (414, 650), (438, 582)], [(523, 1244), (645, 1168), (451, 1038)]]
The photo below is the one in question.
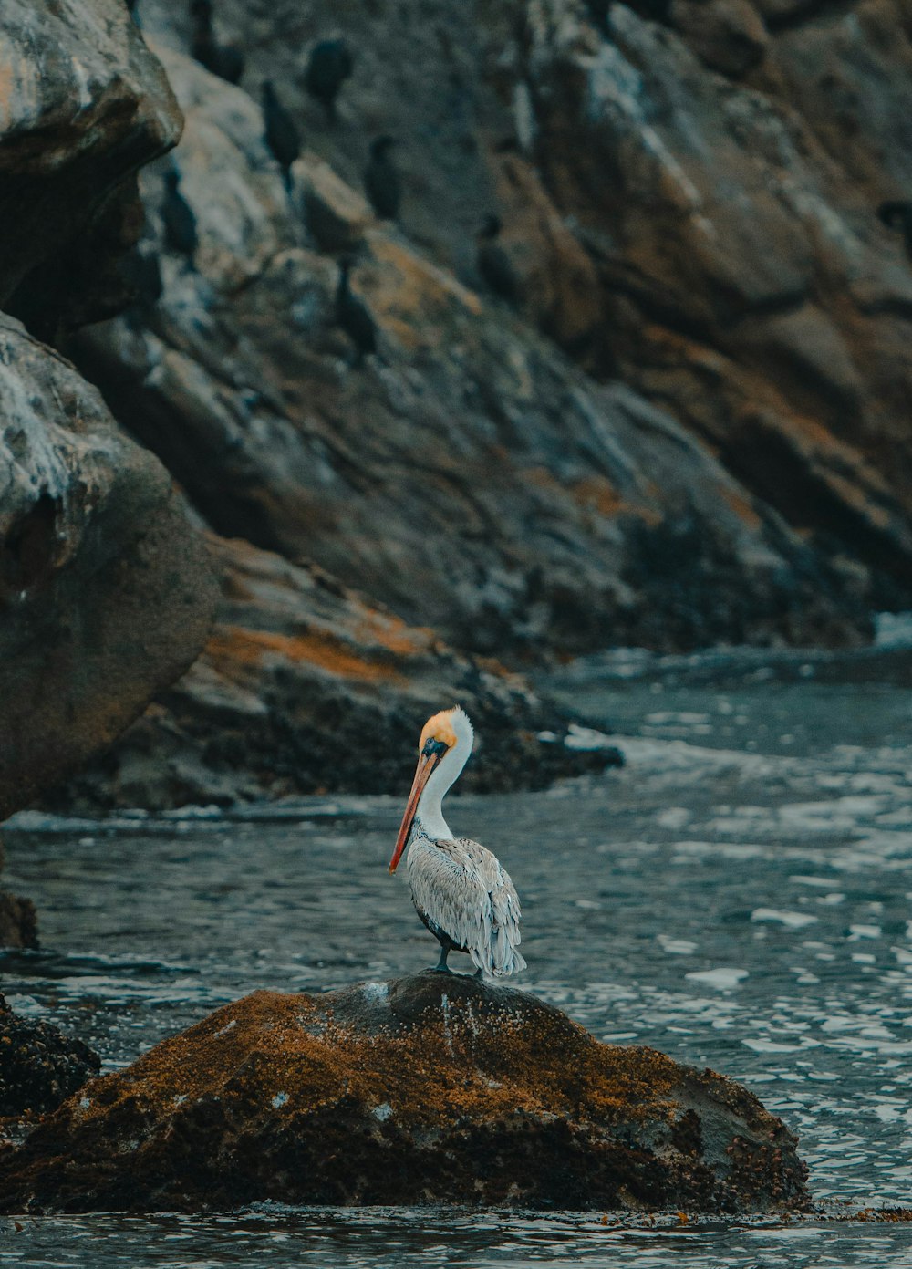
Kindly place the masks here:
[[(179, 0), (141, 0), (199, 244), (167, 247), (150, 171), (164, 293), (81, 364), (219, 532), (459, 647), (864, 637), (909, 599), (912, 275), (876, 207), (912, 179), (912, 57), (890, 0), (774, 9), (424, 0), (330, 32), (223, 0), (233, 88), (184, 56)], [(327, 33), (335, 119), (304, 82)], [(288, 188), (266, 75), (303, 137)], [(360, 193), (378, 133), (394, 223)], [(514, 306), (476, 263), (492, 211)]]

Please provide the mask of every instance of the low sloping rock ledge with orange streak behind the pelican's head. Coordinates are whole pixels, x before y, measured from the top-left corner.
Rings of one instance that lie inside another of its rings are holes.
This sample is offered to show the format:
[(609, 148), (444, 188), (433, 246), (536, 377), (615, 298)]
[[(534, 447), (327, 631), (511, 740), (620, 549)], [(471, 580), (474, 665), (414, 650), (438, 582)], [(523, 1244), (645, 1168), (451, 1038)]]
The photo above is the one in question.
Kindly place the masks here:
[(245, 542), (213, 538), (211, 551), (222, 598), (203, 655), (44, 805), (98, 813), (326, 791), (405, 796), (414, 737), (455, 702), (478, 737), (467, 787), (543, 788), (622, 761), (606, 741), (567, 747), (566, 712), (519, 675), (454, 652), (321, 569)]

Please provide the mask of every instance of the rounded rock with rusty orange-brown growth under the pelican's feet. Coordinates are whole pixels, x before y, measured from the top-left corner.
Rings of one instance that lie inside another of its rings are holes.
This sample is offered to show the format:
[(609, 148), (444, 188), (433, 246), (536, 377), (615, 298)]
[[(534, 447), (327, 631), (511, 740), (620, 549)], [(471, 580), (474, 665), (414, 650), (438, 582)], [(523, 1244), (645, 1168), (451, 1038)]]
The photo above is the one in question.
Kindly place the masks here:
[(71, 1098), (0, 1176), (6, 1212), (807, 1203), (795, 1138), (731, 1080), (433, 972), (227, 1005)]

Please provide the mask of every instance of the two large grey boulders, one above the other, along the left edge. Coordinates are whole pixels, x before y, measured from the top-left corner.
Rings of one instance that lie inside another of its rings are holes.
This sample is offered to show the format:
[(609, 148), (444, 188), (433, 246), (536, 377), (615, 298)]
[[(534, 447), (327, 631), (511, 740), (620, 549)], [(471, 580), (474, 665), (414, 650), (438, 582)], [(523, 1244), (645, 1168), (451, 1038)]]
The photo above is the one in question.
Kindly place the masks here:
[[(37, 338), (123, 306), (134, 171), (180, 126), (122, 0), (3, 5), (0, 820), (110, 744), (193, 660), (212, 614), (167, 472)], [(25, 910), (8, 916), (28, 934)]]

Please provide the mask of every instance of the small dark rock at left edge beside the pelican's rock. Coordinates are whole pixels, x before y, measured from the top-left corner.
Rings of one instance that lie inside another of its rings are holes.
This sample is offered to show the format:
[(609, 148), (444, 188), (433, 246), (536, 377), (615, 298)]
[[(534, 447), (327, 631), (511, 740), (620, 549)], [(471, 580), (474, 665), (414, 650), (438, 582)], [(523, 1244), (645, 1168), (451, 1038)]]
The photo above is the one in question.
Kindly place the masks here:
[(100, 1067), (82, 1041), (19, 1018), (0, 996), (0, 1115), (55, 1110)]

